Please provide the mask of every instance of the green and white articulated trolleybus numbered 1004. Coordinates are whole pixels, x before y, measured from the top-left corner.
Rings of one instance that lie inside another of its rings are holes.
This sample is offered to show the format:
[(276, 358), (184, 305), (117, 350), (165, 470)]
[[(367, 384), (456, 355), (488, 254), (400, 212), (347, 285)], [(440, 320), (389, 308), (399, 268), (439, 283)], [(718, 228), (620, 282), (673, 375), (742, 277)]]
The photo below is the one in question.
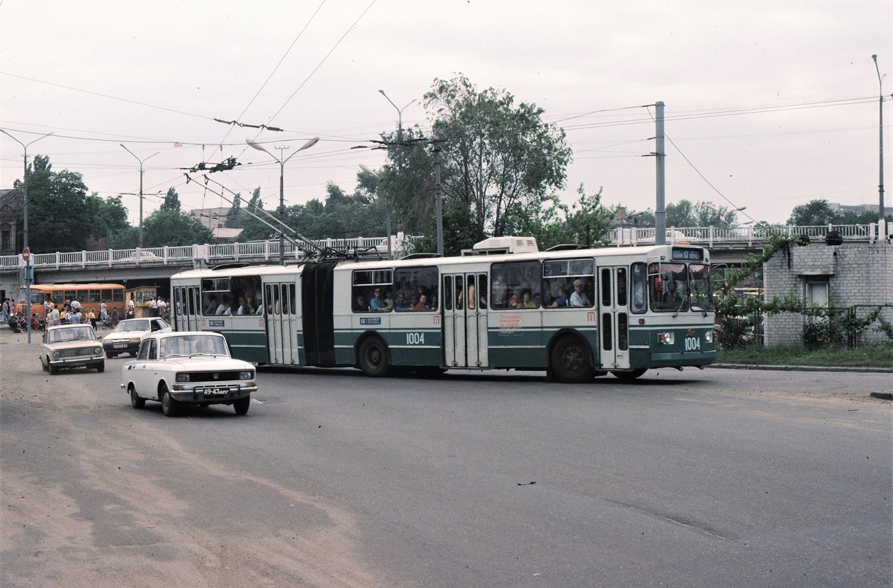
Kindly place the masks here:
[(373, 376), (517, 369), (588, 382), (716, 360), (704, 248), (541, 252), (535, 239), (499, 239), (502, 253), (495, 239), (475, 246), (488, 255), (178, 273), (174, 326), (220, 332), (257, 365)]

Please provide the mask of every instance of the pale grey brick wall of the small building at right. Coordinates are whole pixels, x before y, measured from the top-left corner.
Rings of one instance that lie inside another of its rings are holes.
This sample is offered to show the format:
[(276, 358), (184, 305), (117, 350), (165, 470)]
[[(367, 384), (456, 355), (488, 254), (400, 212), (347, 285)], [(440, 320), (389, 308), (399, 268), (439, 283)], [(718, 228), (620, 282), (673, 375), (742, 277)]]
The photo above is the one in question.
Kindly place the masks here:
[[(805, 297), (809, 278), (827, 275), (830, 300), (839, 307), (893, 303), (893, 244), (811, 243), (778, 251), (763, 265), (766, 300), (794, 292)], [(860, 309), (864, 314), (864, 309)], [(891, 312), (884, 310), (886, 320)], [(765, 318), (766, 345), (799, 344), (804, 317), (780, 313)], [(886, 340), (880, 333), (866, 332), (866, 340)]]

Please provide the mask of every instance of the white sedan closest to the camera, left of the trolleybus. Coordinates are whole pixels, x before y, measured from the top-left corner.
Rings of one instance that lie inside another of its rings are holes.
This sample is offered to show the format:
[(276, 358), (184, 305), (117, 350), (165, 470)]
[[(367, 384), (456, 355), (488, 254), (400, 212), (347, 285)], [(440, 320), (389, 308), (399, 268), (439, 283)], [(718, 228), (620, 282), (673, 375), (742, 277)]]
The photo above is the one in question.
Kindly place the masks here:
[(257, 391), (255, 366), (230, 357), (215, 332), (156, 332), (140, 342), (137, 358), (121, 368), (121, 389), (134, 408), (162, 403), (164, 416), (180, 407), (231, 404), (245, 415)]

